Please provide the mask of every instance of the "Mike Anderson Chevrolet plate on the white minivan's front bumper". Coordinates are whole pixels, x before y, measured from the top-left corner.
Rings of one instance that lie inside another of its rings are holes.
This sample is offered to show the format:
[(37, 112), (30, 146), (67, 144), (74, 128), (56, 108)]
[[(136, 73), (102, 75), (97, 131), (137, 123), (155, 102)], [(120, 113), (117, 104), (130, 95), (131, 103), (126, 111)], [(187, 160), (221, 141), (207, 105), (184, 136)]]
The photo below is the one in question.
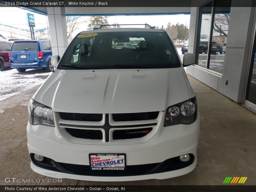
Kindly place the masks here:
[(124, 153), (90, 153), (89, 161), (90, 161), (90, 169), (91, 170), (125, 170), (126, 162), (125, 162), (125, 154)]

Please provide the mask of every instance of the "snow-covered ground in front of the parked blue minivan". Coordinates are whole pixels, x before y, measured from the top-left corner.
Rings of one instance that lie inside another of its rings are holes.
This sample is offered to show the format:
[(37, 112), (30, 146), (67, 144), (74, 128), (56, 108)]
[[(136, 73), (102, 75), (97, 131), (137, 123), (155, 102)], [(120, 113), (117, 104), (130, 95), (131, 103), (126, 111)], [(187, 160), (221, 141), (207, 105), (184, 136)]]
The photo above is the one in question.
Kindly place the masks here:
[(27, 69), (24, 73), (10, 68), (0, 71), (0, 100), (43, 83), (50, 74), (44, 69)]

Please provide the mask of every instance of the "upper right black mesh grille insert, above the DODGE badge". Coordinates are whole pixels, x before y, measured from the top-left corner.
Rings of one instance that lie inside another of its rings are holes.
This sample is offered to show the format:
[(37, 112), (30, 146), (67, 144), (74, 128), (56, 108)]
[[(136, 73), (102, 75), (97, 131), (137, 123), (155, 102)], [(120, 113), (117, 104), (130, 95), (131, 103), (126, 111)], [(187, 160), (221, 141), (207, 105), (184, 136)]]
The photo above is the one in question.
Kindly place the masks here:
[(159, 111), (143, 112), (143, 113), (115, 113), (113, 114), (114, 121), (141, 121), (156, 119)]

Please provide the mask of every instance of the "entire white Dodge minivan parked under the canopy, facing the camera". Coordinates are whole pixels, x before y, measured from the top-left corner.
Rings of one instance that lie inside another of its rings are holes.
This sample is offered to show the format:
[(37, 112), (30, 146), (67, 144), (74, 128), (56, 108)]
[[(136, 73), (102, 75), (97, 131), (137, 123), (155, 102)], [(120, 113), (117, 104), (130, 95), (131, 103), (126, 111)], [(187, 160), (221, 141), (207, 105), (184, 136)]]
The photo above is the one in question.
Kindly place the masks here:
[[(118, 43), (139, 44), (115, 49)], [(194, 63), (186, 53), (183, 66)], [(79, 33), (29, 103), (33, 171), (54, 178), (166, 179), (196, 167), (199, 111), (162, 29)]]

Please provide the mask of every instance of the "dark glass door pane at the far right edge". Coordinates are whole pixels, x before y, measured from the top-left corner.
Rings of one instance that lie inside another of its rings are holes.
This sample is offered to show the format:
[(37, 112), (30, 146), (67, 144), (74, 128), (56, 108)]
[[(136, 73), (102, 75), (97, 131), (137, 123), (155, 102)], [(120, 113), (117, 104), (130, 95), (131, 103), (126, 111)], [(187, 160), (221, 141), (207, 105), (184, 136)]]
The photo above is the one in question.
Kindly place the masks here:
[(256, 104), (256, 43), (254, 43), (254, 54), (252, 58), (245, 99)]

